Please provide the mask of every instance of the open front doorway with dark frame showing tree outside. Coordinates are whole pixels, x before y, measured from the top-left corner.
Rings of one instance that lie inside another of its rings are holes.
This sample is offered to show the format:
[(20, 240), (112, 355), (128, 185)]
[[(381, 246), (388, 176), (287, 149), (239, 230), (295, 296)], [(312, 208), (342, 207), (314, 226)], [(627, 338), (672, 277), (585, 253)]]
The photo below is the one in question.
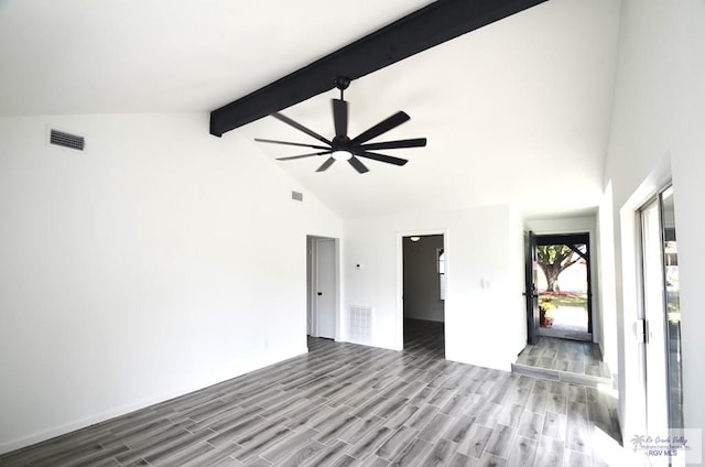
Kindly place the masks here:
[(529, 343), (539, 336), (592, 341), (589, 235), (530, 232), (527, 238)]

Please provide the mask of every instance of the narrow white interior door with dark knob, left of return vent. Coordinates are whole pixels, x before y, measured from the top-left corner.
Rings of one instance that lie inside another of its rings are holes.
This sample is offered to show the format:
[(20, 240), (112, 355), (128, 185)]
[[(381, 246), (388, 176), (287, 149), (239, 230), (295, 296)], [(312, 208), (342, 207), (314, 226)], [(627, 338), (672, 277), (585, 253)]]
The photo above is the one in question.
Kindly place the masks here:
[(335, 240), (318, 238), (315, 246), (315, 294), (313, 311), (317, 337), (336, 337)]

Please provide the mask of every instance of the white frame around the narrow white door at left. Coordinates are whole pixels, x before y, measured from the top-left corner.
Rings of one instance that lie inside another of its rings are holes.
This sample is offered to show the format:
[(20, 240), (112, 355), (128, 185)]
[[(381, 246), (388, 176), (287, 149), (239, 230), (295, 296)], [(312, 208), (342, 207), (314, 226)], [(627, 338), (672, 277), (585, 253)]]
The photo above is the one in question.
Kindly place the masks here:
[(306, 236), (306, 335), (312, 337), (319, 335), (316, 300), (319, 258), (316, 249), (317, 240), (333, 240), (334, 242), (334, 340), (340, 340), (340, 240), (335, 237)]

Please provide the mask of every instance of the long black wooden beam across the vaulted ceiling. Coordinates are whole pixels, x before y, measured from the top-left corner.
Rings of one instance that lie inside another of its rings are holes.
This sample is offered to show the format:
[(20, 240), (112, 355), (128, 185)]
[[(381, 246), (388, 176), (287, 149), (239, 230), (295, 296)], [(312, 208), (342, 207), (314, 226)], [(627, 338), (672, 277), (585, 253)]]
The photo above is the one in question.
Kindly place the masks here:
[[(547, 0), (438, 0), (210, 112), (223, 133)], [(447, 79), (458, 79), (451, 76)]]

